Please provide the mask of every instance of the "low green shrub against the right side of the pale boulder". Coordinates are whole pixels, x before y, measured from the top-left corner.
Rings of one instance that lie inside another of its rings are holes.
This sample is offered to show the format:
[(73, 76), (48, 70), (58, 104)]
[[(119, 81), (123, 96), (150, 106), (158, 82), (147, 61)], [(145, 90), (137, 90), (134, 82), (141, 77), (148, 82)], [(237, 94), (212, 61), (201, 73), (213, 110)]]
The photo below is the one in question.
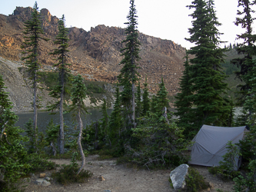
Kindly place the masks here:
[(204, 177), (193, 167), (188, 167), (188, 174), (185, 177), (186, 191), (198, 192), (207, 189), (210, 184), (204, 180)]

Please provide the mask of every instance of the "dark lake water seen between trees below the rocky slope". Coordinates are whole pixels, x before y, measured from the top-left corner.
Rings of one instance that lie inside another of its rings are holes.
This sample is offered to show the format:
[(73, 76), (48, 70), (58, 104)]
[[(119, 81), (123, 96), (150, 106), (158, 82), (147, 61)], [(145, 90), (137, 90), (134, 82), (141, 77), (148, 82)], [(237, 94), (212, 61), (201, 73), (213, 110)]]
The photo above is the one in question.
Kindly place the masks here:
[[(86, 124), (91, 124), (93, 121), (98, 121), (102, 118), (102, 114), (100, 109), (90, 109), (88, 112), (90, 114), (86, 114), (85, 117), (82, 117), (83, 126), (86, 127)], [(111, 114), (112, 109), (108, 109), (108, 115)], [(16, 113), (18, 115), (18, 122), (15, 126), (24, 128), (24, 124), (28, 122), (31, 118), (33, 120), (33, 113), (32, 112), (23, 112), (23, 113)], [(71, 119), (71, 114), (64, 114), (64, 123), (68, 126), (68, 130), (74, 130), (75, 124)], [(59, 113), (54, 115), (50, 115), (49, 112), (38, 112), (38, 131), (42, 131), (45, 133), (46, 126), (48, 125), (49, 121), (53, 119), (55, 124), (59, 124)]]

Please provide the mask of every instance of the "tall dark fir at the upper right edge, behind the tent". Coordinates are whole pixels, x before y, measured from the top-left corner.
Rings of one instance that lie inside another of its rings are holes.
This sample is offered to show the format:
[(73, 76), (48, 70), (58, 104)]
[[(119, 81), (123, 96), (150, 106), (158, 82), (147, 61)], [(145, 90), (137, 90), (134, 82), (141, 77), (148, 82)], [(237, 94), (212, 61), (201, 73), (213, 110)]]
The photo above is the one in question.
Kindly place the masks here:
[[(252, 17), (254, 10), (251, 9), (253, 5), (256, 5), (256, 2), (249, 0), (239, 0), (238, 1), (238, 18), (236, 18), (235, 25), (241, 25), (241, 28), (244, 28), (245, 31), (241, 35), (237, 35), (238, 39), (241, 39), (242, 42), (238, 45), (236, 50), (238, 54), (244, 55), (243, 58), (234, 58), (231, 60), (231, 63), (237, 65), (241, 68), (240, 71), (236, 71), (236, 77), (243, 81), (243, 84), (240, 84), (240, 95), (241, 98), (238, 99), (238, 105), (244, 107), (245, 114), (251, 115), (253, 113), (252, 104), (245, 102), (248, 97), (253, 97), (250, 95), (252, 85), (252, 78), (254, 74), (254, 61), (253, 57), (256, 55), (256, 47), (254, 42), (256, 41), (256, 35), (253, 35), (252, 23), (255, 18)], [(249, 99), (250, 100), (250, 99)], [(244, 122), (243, 122), (244, 124)]]

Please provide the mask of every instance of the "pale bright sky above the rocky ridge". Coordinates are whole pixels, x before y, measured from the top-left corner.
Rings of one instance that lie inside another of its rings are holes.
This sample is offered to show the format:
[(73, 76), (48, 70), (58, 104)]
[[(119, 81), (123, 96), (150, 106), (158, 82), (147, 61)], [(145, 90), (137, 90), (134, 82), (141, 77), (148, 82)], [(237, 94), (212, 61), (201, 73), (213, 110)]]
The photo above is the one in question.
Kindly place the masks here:
[[(38, 8), (47, 8), (52, 14), (61, 18), (65, 15), (67, 27), (84, 28), (89, 31), (97, 25), (125, 28), (130, 0), (38, 0)], [(191, 28), (191, 12), (186, 5), (192, 0), (135, 0), (138, 11), (138, 31), (156, 38), (168, 39), (184, 48), (192, 45), (186, 41), (189, 38), (188, 28)], [(241, 27), (234, 25), (238, 9), (238, 0), (215, 0), (215, 10), (221, 41), (234, 44)], [(0, 14), (11, 15), (18, 7), (33, 7), (34, 0), (5, 0), (1, 2)], [(254, 8), (255, 10), (255, 8)], [(254, 28), (256, 26), (254, 25)]]

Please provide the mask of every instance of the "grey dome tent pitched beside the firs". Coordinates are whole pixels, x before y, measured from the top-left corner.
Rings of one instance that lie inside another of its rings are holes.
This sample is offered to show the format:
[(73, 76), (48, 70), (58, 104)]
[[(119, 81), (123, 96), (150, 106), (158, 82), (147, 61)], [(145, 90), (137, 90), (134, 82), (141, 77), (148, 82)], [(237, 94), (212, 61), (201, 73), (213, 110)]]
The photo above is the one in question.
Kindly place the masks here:
[[(244, 136), (246, 127), (215, 127), (203, 125), (194, 137), (191, 147), (191, 161), (189, 164), (198, 164), (208, 167), (219, 165), (223, 155), (227, 153), (228, 141), (236, 144)], [(238, 158), (235, 160), (234, 169), (239, 167)]]

